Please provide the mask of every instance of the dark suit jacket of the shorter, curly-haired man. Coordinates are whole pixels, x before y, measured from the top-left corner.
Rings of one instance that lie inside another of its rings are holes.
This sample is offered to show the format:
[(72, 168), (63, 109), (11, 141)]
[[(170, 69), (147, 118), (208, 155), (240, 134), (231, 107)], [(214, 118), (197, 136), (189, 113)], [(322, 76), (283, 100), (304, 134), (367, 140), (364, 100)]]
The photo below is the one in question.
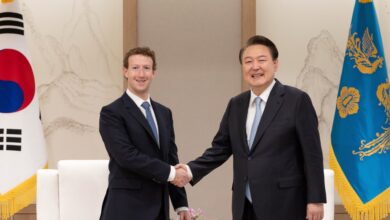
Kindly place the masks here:
[(172, 113), (157, 102), (151, 104), (160, 146), (145, 116), (126, 93), (101, 110), (99, 130), (110, 157), (101, 219), (154, 220), (160, 210), (168, 219), (169, 196), (175, 208), (188, 206), (184, 188), (167, 182), (170, 165), (179, 161)]

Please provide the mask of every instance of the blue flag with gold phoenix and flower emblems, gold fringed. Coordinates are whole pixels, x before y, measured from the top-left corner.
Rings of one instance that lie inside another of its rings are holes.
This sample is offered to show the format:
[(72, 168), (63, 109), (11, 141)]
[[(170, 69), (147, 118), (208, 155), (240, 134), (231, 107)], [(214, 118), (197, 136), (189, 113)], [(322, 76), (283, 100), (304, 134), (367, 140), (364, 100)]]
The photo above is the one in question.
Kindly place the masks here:
[(389, 125), (390, 84), (374, 3), (356, 0), (330, 148), (335, 185), (352, 219), (390, 213)]

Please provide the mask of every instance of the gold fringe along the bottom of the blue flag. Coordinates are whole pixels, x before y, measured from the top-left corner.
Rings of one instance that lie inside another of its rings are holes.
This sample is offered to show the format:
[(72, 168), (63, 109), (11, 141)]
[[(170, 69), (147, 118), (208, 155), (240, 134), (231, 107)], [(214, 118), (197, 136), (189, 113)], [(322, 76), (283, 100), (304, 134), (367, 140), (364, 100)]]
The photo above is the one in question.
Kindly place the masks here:
[(390, 188), (363, 204), (345, 177), (332, 146), (329, 147), (329, 151), (329, 165), (335, 172), (335, 187), (352, 220), (380, 220), (388, 216), (390, 213)]

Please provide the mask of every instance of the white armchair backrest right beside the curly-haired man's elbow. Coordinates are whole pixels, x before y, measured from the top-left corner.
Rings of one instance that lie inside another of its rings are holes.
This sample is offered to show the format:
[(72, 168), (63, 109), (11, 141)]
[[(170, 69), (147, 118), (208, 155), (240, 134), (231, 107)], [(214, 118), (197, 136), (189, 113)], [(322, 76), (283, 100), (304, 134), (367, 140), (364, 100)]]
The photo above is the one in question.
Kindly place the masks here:
[(60, 220), (99, 219), (108, 185), (107, 160), (58, 162)]

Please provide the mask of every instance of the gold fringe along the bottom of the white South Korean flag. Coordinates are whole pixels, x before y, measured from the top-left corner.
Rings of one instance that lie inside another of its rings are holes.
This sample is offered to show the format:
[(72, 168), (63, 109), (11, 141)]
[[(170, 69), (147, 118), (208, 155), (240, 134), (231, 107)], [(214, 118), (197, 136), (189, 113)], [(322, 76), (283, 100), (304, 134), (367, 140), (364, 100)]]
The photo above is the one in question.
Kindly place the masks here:
[[(46, 164), (43, 169), (47, 169)], [(37, 175), (34, 174), (4, 195), (0, 195), (0, 220), (7, 220), (35, 201)]]

